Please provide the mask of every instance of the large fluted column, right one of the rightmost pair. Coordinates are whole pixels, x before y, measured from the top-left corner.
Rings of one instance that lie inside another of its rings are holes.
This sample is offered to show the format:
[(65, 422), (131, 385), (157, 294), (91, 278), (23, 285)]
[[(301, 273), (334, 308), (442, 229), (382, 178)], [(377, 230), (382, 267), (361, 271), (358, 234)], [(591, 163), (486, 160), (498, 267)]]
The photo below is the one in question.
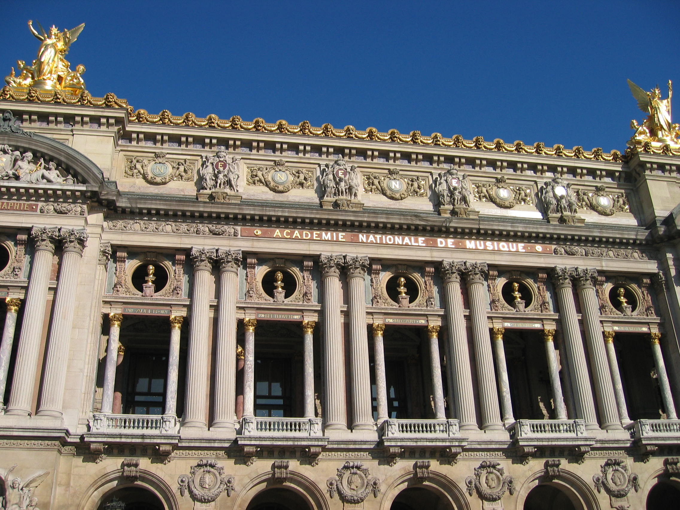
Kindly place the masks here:
[(585, 341), (588, 344), (588, 354), (595, 384), (598, 409), (600, 410), (600, 425), (604, 429), (621, 428), (621, 419), (616, 406), (614, 385), (611, 381), (609, 362), (605, 340), (602, 338), (602, 324), (600, 324), (600, 305), (595, 293), (594, 280), (597, 278), (595, 269), (578, 267), (576, 269), (577, 290), (581, 301), (581, 316)]

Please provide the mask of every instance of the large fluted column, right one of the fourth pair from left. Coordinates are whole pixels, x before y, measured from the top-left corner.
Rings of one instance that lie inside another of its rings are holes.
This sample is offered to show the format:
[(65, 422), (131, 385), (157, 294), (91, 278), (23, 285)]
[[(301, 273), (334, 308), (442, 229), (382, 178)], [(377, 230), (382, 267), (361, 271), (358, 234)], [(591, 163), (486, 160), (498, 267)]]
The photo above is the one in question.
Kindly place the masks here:
[(488, 271), (486, 262), (465, 262), (463, 272), (470, 298), (470, 321), (475, 345), (475, 366), (479, 385), (479, 407), (483, 430), (504, 430), (500, 422), (498, 392), (494, 377), (494, 356), (489, 336), (489, 322), (486, 317), (486, 291), (484, 275)]

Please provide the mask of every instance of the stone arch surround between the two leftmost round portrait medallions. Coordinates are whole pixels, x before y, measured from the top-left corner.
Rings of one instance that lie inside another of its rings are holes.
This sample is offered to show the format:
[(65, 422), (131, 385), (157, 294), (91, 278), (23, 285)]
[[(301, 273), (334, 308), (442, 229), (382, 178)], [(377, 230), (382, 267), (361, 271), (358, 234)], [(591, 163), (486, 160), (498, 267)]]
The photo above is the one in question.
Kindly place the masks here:
[(271, 470), (250, 479), (236, 495), (233, 508), (247, 508), (250, 501), (257, 494), (272, 488), (282, 488), (296, 492), (311, 509), (330, 509), (324, 490), (319, 488), (310, 478), (292, 470), (288, 471), (288, 478), (284, 483), (274, 481), (271, 477)]

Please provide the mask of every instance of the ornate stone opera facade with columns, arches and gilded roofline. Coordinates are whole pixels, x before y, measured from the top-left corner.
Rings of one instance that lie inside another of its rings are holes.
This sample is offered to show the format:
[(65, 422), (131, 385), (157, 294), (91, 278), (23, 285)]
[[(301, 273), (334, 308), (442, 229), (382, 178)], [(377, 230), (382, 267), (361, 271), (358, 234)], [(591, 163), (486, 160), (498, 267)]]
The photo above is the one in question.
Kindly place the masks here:
[(680, 498), (674, 133), (156, 115), (79, 72), (0, 92), (3, 509)]

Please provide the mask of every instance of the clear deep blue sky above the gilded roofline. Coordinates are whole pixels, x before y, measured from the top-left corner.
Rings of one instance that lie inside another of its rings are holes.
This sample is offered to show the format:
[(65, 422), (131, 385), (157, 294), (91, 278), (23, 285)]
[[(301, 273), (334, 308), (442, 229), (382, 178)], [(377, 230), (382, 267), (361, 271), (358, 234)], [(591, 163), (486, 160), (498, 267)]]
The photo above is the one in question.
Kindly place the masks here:
[(626, 78), (676, 84), (680, 2), (4, 0), (1, 71), (35, 58), (27, 20), (86, 27), (88, 90), (157, 114), (309, 120), (624, 150)]

